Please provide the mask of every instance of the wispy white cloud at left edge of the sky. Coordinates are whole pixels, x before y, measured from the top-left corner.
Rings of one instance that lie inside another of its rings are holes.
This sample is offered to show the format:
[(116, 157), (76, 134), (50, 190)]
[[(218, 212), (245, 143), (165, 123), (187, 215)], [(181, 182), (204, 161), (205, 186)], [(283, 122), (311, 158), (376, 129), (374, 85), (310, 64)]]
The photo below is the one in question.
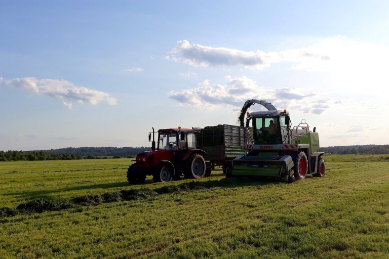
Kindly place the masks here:
[(88, 103), (92, 105), (96, 105), (99, 102), (106, 102), (109, 105), (116, 105), (117, 101), (116, 98), (110, 97), (107, 93), (85, 87), (77, 87), (73, 83), (63, 79), (37, 79), (35, 77), (24, 77), (3, 80), (3, 78), (0, 77), (0, 85), (60, 99), (67, 108), (71, 108), (73, 102)]

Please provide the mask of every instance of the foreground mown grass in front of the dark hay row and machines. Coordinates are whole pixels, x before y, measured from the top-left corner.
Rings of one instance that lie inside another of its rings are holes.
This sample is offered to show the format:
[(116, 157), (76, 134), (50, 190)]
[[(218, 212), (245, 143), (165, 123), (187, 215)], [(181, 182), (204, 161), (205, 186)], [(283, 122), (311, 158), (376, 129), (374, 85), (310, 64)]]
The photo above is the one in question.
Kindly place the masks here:
[[(6, 258), (385, 258), (387, 162), (325, 160), (324, 178), (294, 184), (216, 176), (198, 181), (205, 189), (2, 218), (0, 252)], [(190, 182), (119, 188), (174, 190)]]

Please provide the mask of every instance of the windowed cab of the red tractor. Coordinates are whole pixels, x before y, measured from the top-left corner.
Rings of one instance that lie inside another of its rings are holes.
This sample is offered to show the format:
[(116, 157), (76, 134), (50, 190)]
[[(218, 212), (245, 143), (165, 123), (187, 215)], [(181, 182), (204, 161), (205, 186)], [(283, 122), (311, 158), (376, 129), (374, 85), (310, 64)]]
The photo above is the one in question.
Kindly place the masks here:
[(197, 143), (195, 131), (190, 128), (165, 128), (158, 131), (157, 150), (182, 150), (196, 148)]

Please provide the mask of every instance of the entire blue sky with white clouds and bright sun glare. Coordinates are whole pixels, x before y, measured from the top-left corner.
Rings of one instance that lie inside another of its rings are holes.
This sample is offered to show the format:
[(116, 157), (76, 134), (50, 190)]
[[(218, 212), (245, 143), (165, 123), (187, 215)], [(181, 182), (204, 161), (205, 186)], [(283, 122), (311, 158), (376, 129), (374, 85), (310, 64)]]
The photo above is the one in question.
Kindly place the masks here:
[(306, 119), (321, 146), (387, 144), (387, 13), (388, 1), (0, 0), (0, 150), (149, 146), (151, 126), (236, 124), (247, 99)]

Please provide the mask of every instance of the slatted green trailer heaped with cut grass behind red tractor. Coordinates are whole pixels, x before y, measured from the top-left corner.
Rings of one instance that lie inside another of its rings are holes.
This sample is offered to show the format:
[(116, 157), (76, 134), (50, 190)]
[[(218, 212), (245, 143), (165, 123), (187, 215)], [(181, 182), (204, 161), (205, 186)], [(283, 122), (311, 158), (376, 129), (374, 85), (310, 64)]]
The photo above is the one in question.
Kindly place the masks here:
[(252, 129), (235, 125), (193, 127), (197, 132), (198, 148), (204, 150), (206, 160), (206, 175), (211, 170), (221, 167), (223, 172), (230, 170), (231, 161), (245, 154), (246, 144), (252, 144)]

